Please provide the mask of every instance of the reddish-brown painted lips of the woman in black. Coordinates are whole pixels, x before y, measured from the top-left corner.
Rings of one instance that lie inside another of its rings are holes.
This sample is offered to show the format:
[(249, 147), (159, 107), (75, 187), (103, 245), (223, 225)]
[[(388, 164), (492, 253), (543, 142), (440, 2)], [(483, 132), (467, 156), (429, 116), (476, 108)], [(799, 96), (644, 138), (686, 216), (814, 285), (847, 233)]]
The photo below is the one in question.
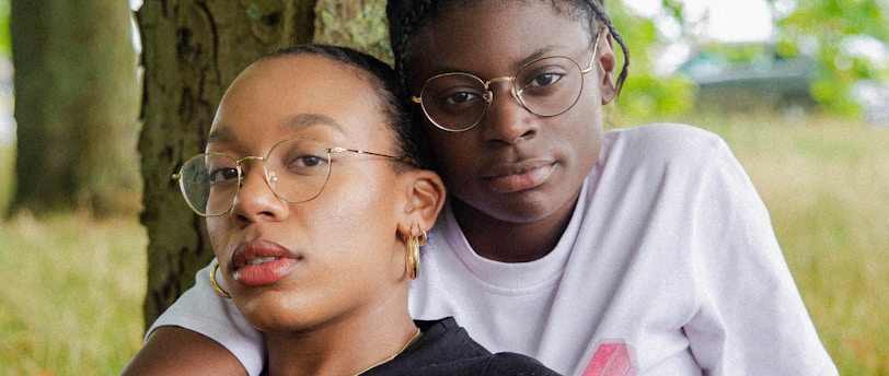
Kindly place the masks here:
[(278, 282), (293, 270), (299, 259), (289, 249), (259, 239), (238, 246), (231, 265), (234, 280), (251, 287)]

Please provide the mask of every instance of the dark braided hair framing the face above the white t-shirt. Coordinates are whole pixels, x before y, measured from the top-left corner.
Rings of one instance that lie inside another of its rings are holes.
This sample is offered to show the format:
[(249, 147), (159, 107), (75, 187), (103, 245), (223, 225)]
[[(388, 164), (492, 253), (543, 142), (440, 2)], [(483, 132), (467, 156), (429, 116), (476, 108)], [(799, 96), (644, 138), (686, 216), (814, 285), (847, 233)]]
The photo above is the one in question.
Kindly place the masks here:
[[(466, 1), (476, 0), (389, 0), (385, 5), (385, 13), (389, 17), (389, 38), (392, 45), (392, 52), (395, 57), (395, 71), (405, 79), (405, 66), (411, 59), (409, 38), (414, 32), (423, 27), (424, 22), (438, 15), (446, 5), (459, 5)], [(590, 34), (594, 34), (598, 28), (598, 20), (608, 27), (611, 36), (621, 46), (624, 52), (624, 64), (617, 81), (614, 84), (615, 93), (620, 94), (626, 80), (627, 68), (630, 67), (630, 49), (626, 47), (623, 37), (617, 33), (604, 9), (604, 0), (550, 0), (553, 7), (572, 5), (573, 11), (578, 12), (578, 16), (587, 19)], [(561, 8), (565, 10), (564, 8)]]

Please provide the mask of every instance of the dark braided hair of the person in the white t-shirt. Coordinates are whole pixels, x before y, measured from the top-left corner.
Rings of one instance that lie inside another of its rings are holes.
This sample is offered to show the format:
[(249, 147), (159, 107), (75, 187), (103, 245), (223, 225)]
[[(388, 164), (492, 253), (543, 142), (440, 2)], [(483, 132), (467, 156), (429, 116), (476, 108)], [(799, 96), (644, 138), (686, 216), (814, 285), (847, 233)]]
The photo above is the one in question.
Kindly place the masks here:
[[(386, 14), (389, 16), (389, 30), (392, 37), (392, 51), (395, 56), (395, 71), (399, 73), (400, 80), (402, 84), (406, 87), (405, 82), (405, 67), (404, 63), (407, 60), (409, 54), (407, 51), (408, 39), (409, 36), (413, 34), (414, 28), (429, 15), (429, 13), (434, 9), (435, 0), (414, 0), (414, 1), (399, 1), (399, 0), (389, 0), (386, 4)], [(624, 64), (621, 68), (621, 73), (617, 75), (617, 80), (614, 83), (614, 90), (617, 95), (620, 95), (621, 90), (623, 89), (624, 81), (626, 81), (626, 77), (628, 74), (630, 68), (630, 49), (626, 47), (626, 43), (624, 43), (623, 37), (620, 33), (617, 33), (617, 28), (611, 22), (611, 17), (605, 12), (603, 7), (604, 0), (576, 0), (580, 3), (586, 3), (592, 10), (596, 20), (602, 22), (605, 27), (608, 27), (611, 36), (617, 44), (621, 46), (621, 50), (624, 54)], [(406, 5), (405, 5), (406, 4)], [(580, 4), (578, 4), (580, 5)], [(404, 8), (409, 7), (409, 10), (405, 12)], [(590, 25), (594, 27), (594, 25)]]

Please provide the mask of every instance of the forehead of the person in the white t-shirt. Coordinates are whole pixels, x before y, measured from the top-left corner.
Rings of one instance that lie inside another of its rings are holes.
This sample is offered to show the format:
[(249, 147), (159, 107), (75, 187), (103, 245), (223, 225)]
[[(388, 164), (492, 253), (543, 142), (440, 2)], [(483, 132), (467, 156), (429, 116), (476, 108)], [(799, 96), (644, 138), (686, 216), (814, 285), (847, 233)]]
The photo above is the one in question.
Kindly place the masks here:
[[(552, 1), (467, 1), (447, 5), (412, 37), (409, 81), (464, 71), (509, 74), (550, 55), (575, 57), (589, 46), (586, 19), (572, 5)], [(419, 78), (418, 75), (423, 75)]]

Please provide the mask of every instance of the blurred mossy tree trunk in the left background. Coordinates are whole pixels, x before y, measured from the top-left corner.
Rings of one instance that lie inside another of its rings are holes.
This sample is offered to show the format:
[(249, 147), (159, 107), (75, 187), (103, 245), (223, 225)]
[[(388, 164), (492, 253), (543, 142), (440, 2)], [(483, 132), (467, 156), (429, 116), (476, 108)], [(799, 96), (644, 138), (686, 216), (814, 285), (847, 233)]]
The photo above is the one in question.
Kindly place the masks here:
[(10, 23), (18, 121), (11, 210), (103, 214), (138, 202), (139, 91), (127, 2), (12, 0)]

